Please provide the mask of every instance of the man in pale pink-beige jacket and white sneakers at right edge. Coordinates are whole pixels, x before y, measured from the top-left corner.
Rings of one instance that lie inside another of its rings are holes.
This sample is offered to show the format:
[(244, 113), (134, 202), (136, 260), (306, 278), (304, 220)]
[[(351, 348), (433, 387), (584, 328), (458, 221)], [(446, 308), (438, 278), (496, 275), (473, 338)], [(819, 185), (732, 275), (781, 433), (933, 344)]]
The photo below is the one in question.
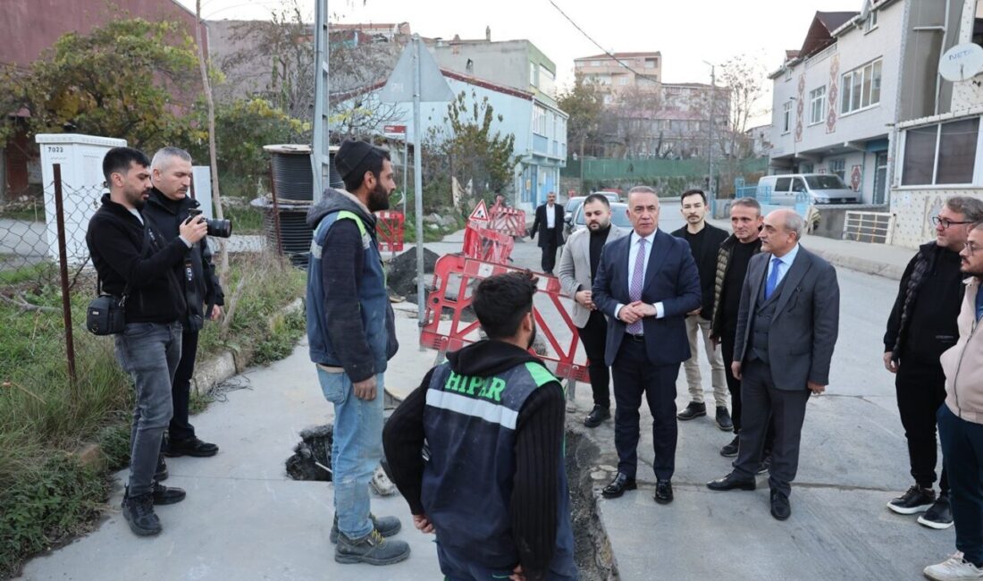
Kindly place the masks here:
[(969, 232), (959, 253), (966, 291), (957, 320), (959, 340), (942, 354), (946, 402), (939, 407), (939, 439), (955, 523), (953, 556), (925, 567), (937, 581), (983, 579), (983, 338), (977, 334), (983, 317), (983, 223)]

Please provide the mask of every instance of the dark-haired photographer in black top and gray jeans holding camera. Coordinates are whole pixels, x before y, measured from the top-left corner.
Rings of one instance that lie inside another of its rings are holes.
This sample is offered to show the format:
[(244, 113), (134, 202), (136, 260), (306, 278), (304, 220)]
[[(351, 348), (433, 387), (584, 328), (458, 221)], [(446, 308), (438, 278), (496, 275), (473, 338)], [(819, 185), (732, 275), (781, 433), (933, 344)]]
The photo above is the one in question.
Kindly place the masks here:
[(160, 532), (154, 504), (185, 497), (154, 478), (160, 440), (171, 419), (171, 382), (181, 358), (181, 321), (187, 312), (174, 274), (185, 254), (202, 240), (202, 219), (182, 223), (169, 242), (140, 210), (149, 196), (146, 155), (130, 147), (110, 149), (102, 161), (109, 194), (88, 223), (86, 243), (102, 290), (125, 297), (126, 329), (117, 334), (116, 357), (136, 389), (130, 439), (130, 478), (123, 516), (137, 535)]

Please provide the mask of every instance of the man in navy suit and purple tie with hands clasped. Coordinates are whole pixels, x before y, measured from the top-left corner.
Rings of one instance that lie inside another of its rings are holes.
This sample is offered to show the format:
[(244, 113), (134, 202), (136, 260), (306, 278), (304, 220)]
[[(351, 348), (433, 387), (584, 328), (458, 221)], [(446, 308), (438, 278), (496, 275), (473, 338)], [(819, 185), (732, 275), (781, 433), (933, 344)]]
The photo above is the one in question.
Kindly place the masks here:
[(607, 315), (605, 363), (614, 379), (614, 446), (618, 472), (602, 495), (636, 488), (642, 394), (652, 412), (656, 501), (672, 501), (675, 470), (675, 382), (689, 359), (686, 314), (703, 301), (686, 241), (659, 230), (659, 196), (647, 186), (628, 192), (630, 236), (608, 244), (594, 277), (593, 299)]

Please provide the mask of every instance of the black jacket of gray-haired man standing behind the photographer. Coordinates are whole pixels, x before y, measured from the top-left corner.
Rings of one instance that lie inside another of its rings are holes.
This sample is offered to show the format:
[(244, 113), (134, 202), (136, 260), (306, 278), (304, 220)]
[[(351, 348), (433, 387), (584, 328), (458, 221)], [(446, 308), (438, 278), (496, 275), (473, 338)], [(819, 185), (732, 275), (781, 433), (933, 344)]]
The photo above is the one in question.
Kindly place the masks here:
[[(150, 197), (144, 206), (144, 217), (149, 218), (154, 227), (164, 236), (164, 240), (173, 241), (180, 235), (181, 222), (188, 219), (188, 210), (200, 206), (197, 200), (185, 197), (181, 200), (170, 200), (159, 190), (150, 190)], [(192, 246), (187, 259), (192, 265), (193, 284), (188, 288), (187, 274), (184, 261), (176, 265), (175, 275), (181, 282), (182, 290), (186, 293), (188, 305), (188, 320), (182, 320), (185, 330), (196, 330), (202, 327), (205, 305), (224, 305), (225, 295), (218, 284), (215, 275), (215, 265), (211, 262), (211, 249), (205, 239)], [(193, 322), (197, 319), (197, 323)]]

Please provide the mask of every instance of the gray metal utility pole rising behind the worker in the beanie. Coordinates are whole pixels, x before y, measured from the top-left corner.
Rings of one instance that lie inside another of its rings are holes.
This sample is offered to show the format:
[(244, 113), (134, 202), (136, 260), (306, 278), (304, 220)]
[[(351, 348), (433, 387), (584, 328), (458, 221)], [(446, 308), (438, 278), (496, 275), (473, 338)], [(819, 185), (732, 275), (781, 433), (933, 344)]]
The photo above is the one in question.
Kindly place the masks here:
[(314, 173), (314, 203), (320, 202), (324, 193), (324, 177), (329, 174), (331, 158), (328, 156), (327, 114), (330, 81), (328, 80), (327, 0), (317, 0), (315, 9), (315, 80), (314, 80), (314, 130), (311, 134), (311, 171)]

